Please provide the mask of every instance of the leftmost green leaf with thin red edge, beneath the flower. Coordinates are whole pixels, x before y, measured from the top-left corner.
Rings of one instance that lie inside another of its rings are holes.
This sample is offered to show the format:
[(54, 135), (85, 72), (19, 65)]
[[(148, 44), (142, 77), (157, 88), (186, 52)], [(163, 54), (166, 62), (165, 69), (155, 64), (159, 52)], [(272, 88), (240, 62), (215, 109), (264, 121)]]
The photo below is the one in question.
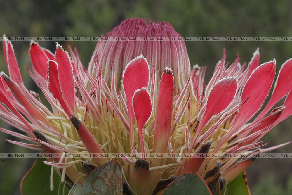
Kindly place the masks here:
[[(61, 183), (61, 177), (54, 172), (54, 190), (50, 189), (51, 166), (45, 165), (45, 158), (36, 160), (32, 168), (22, 178), (20, 188), (22, 195), (55, 195), (63, 194), (65, 183)], [(69, 193), (69, 188), (65, 185), (64, 194)]]

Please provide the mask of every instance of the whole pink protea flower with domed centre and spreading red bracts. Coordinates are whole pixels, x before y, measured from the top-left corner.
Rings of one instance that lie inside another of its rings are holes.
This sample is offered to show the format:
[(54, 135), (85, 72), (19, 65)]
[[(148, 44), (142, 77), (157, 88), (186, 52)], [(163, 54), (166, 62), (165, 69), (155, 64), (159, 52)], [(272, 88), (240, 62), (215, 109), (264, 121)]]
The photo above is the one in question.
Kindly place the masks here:
[[(114, 36), (181, 37), (168, 23), (150, 21), (147, 25), (142, 19), (125, 20), (104, 37)], [(243, 65), (239, 56), (231, 65), (226, 63), (223, 50), (206, 85), (206, 67), (196, 65), (190, 70), (181, 39), (105, 39), (98, 42), (88, 70), (76, 49), (69, 48), (69, 56), (57, 43), (53, 54), (32, 42), (28, 72), (51, 111), (36, 92), (25, 88), (12, 44), (5, 37), (3, 50), (10, 76), (1, 73), (0, 115), (24, 134), (1, 131), (32, 143), (6, 141), (44, 153), (82, 154), (80, 158), (44, 161), (70, 187), (77, 182), (83, 185), (88, 169), (106, 167), (112, 160), (106, 154), (116, 153), (121, 158), (114, 162), (121, 167), (124, 183), (117, 188), (120, 191), (156, 194), (167, 191), (176, 177), (195, 172), (206, 182), (209, 193), (214, 193), (218, 181), (222, 188), (251, 165), (251, 154), (285, 145), (261, 149), (266, 144), (260, 139), (292, 114), (292, 58), (282, 65), (270, 101), (260, 111), (272, 88), (276, 61), (259, 65), (258, 50)], [(273, 108), (284, 96), (284, 105)], [(129, 153), (135, 158), (123, 155)], [(195, 158), (201, 153), (218, 155)], [(225, 158), (234, 153), (247, 156)], [(90, 158), (86, 154), (105, 155)], [(170, 155), (152, 158), (147, 154)]]

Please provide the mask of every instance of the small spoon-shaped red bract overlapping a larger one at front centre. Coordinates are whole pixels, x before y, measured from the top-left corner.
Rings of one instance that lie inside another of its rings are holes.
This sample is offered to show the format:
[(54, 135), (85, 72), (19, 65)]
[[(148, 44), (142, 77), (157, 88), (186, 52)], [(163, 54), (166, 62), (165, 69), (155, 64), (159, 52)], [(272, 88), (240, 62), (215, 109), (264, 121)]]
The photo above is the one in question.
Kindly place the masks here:
[(141, 151), (145, 154), (143, 140), (143, 126), (149, 120), (152, 113), (152, 103), (146, 88), (138, 89), (133, 96), (133, 108), (137, 120)]

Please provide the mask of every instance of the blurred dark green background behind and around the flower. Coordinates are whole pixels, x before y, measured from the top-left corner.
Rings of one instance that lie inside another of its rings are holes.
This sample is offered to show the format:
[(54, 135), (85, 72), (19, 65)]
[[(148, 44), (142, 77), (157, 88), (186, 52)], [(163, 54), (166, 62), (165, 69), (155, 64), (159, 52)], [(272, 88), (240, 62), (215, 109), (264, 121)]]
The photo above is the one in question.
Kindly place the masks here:
[[(290, 1), (4, 1), (0, 0), (0, 34), (7, 36), (100, 36), (129, 17), (168, 21), (182, 36), (292, 36), (292, 3)], [(40, 42), (55, 50), (54, 42)], [(88, 64), (95, 42), (61, 43), (77, 46), (81, 61)], [(260, 48), (260, 62), (277, 60), (277, 70), (292, 57), (291, 42), (186, 42), (192, 65), (207, 65), (206, 82), (210, 79), (223, 48), (227, 61), (236, 53), (241, 63), (250, 61)], [(37, 90), (29, 78), (29, 42), (13, 42), (18, 64), (27, 88)], [(7, 73), (0, 52), (1, 70)], [(292, 118), (271, 130), (263, 141), (274, 146), (292, 140)], [(10, 128), (3, 122), (3, 128)], [(17, 131), (17, 130), (16, 130)], [(0, 133), (0, 153), (32, 152), (4, 139), (14, 137)], [(37, 153), (38, 151), (33, 151)], [(291, 153), (291, 145), (274, 151)], [(0, 194), (20, 194), (20, 181), (34, 161), (5, 159), (0, 161)], [(291, 159), (257, 159), (247, 170), (252, 194), (292, 194)]]

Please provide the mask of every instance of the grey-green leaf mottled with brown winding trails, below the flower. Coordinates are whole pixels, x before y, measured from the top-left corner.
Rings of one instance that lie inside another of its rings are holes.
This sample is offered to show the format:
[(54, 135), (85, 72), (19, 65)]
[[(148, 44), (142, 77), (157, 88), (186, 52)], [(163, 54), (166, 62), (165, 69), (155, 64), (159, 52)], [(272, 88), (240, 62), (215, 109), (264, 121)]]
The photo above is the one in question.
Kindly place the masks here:
[(119, 161), (109, 161), (89, 173), (81, 195), (89, 193), (122, 194), (122, 168)]

